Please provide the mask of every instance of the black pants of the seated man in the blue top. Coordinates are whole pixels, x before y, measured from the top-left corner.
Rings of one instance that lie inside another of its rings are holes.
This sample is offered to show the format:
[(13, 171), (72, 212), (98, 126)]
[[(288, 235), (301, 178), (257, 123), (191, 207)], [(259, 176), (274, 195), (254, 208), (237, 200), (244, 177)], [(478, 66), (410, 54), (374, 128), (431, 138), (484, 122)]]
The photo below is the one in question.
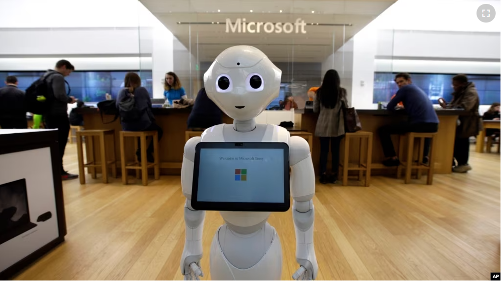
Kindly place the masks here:
[[(379, 138), (383, 146), (383, 153), (385, 157), (395, 157), (395, 148), (391, 141), (391, 135), (402, 135), (409, 132), (414, 133), (436, 133), (438, 131), (437, 123), (397, 123), (390, 124), (379, 128)], [(424, 156), (427, 156), (430, 151), (431, 139), (424, 139)]]

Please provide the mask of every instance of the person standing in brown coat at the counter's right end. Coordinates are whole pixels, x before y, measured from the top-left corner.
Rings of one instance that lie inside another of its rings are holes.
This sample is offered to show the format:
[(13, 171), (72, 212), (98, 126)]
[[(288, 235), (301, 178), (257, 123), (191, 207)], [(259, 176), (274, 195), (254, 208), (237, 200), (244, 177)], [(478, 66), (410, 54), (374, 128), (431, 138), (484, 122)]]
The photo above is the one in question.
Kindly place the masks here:
[(478, 98), (475, 84), (469, 82), (468, 77), (464, 74), (458, 74), (452, 78), (452, 88), (454, 89), (454, 93), (452, 93), (450, 104), (440, 105), (445, 108), (461, 108), (466, 111), (466, 115), (459, 116), (456, 127), (454, 158), (457, 165), (454, 165), (454, 160), (452, 160), (452, 171), (465, 173), (471, 170), (471, 166), (468, 164), (469, 137), (478, 135), (481, 129), (480, 114), (478, 113), (480, 99)]

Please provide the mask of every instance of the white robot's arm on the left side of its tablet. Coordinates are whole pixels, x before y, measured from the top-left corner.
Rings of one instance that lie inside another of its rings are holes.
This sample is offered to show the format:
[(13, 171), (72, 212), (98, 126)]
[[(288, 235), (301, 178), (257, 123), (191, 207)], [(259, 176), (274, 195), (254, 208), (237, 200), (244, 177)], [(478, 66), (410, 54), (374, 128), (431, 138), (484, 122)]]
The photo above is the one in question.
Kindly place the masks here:
[(181, 187), (186, 197), (184, 204), (186, 239), (184, 240), (180, 266), (185, 280), (198, 280), (198, 276), (203, 276), (200, 259), (202, 258), (202, 232), (205, 211), (197, 211), (191, 207), (195, 146), (199, 142), (200, 137), (191, 138), (186, 142), (181, 166)]

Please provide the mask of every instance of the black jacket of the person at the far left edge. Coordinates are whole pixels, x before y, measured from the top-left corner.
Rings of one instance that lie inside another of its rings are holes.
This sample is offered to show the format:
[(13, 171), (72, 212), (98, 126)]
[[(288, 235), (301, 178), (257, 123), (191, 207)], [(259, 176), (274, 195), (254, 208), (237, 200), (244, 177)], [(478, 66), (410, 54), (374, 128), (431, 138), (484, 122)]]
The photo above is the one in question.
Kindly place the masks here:
[(24, 91), (14, 85), (0, 88), (0, 119), (26, 120)]

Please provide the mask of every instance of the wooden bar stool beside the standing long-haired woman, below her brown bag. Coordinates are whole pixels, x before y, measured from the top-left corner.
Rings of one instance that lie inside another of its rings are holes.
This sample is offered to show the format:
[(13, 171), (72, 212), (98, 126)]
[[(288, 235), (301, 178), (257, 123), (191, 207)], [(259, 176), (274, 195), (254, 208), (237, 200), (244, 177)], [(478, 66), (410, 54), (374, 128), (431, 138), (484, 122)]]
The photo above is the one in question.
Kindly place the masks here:
[[(358, 138), (360, 139), (359, 156), (358, 163), (350, 163), (350, 140)], [(367, 150), (362, 153), (363, 140), (367, 139)], [(363, 163), (363, 158), (365, 158), (365, 163)], [(356, 170), (358, 173), (358, 180), (361, 180), (365, 171), (365, 186), (369, 186), (371, 183), (371, 164), (372, 164), (372, 132), (358, 131), (356, 133), (346, 133), (345, 135), (345, 148), (344, 148), (344, 161), (340, 163), (339, 166), (343, 170), (343, 185), (348, 185), (348, 171)]]

